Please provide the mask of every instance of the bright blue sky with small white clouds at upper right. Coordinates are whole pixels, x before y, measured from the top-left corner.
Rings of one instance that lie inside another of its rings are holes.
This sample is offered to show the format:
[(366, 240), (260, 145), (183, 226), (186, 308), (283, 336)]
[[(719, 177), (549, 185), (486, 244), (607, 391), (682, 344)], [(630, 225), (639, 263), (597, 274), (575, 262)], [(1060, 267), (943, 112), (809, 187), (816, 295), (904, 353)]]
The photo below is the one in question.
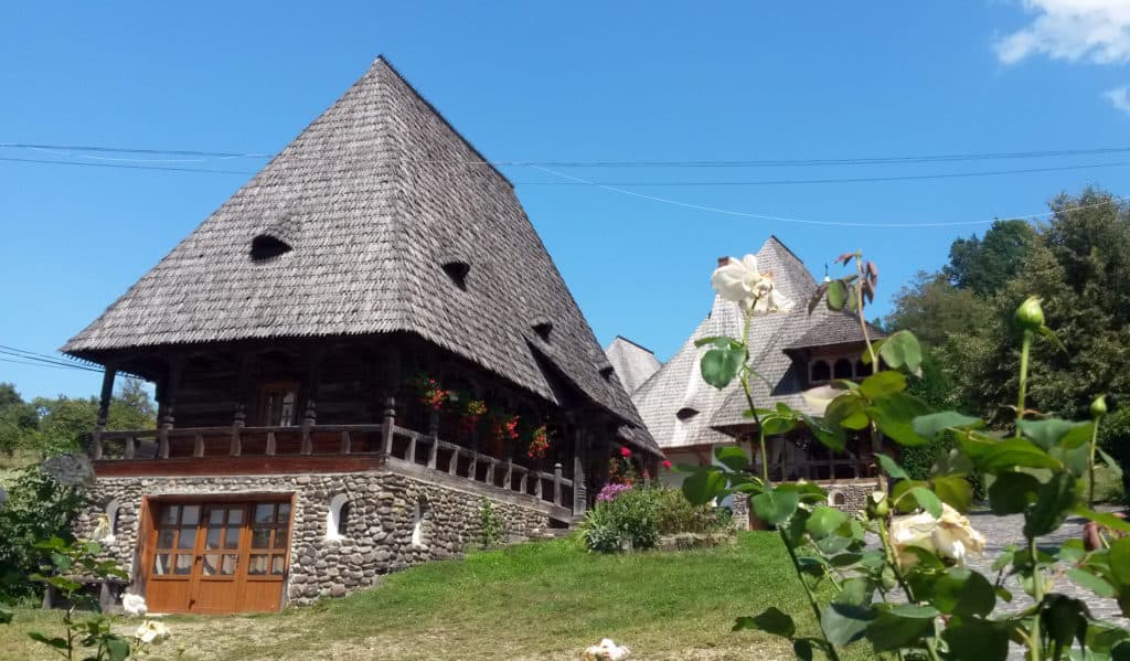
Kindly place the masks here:
[[(490, 159), (749, 160), (1130, 146), (1125, 0), (1024, 2), (19, 3), (0, 23), (0, 142), (273, 153), (384, 53)], [(129, 155), (110, 155), (128, 157)], [(3, 158), (96, 162), (0, 148)], [(132, 156), (137, 158), (137, 155)], [(147, 158), (184, 158), (148, 156)], [(1031, 215), (1116, 194), (1130, 154), (901, 166), (570, 167), (688, 183), (1103, 167), (866, 183), (624, 186), (748, 214), (889, 224)], [(106, 162), (99, 162), (106, 163)], [(262, 159), (203, 167), (251, 172)], [(176, 166), (177, 164), (167, 164)], [(195, 167), (195, 164), (188, 164)], [(880, 302), (984, 226), (853, 228), (738, 217), (508, 166), (601, 342), (667, 358), (722, 254), (776, 234), (819, 276), (863, 247)], [(0, 160), (0, 345), (54, 351), (247, 179)], [(0, 363), (26, 395), (98, 376)]]

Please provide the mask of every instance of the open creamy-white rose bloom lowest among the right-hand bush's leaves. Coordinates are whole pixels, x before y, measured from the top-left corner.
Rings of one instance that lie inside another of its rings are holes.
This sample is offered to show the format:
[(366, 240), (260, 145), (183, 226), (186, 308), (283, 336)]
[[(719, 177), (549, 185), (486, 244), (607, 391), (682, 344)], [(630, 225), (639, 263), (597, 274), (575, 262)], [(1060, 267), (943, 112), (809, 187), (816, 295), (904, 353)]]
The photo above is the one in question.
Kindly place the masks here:
[(973, 529), (970, 520), (957, 510), (941, 504), (941, 516), (935, 519), (929, 512), (896, 516), (890, 523), (890, 541), (898, 554), (898, 564), (910, 567), (918, 558), (906, 553), (910, 547), (930, 551), (939, 558), (964, 565), (971, 553), (981, 555), (985, 549), (985, 538)]

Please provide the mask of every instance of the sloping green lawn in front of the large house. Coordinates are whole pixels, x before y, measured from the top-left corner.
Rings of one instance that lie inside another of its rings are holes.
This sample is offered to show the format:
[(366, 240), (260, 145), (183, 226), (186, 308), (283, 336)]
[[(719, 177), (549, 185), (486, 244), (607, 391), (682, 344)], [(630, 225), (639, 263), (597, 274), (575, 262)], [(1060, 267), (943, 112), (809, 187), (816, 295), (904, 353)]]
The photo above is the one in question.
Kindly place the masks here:
[[(733, 547), (589, 555), (574, 539), (524, 543), (429, 563), (379, 586), (278, 615), (168, 617), (156, 659), (577, 659), (610, 637), (634, 659), (791, 659), (791, 645), (733, 619), (775, 606), (799, 634), (812, 618), (780, 539), (741, 533)], [(19, 610), (0, 626), (0, 659), (52, 659), (26, 632), (49, 635), (58, 612)], [(58, 656), (54, 656), (58, 659)], [(860, 656), (864, 658), (864, 656)]]

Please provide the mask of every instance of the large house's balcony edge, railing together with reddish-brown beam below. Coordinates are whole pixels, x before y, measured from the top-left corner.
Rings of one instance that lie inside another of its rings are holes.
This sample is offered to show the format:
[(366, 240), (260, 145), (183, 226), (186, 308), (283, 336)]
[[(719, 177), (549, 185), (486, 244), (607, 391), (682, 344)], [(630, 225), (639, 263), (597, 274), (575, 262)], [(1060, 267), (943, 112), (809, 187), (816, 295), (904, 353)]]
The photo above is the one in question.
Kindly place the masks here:
[[(486, 496), (574, 514), (574, 481), (385, 421), (301, 427), (195, 427), (95, 432), (97, 477), (279, 475), (391, 470)], [(514, 501), (514, 498), (518, 498)], [(579, 505), (583, 510), (583, 505)]]

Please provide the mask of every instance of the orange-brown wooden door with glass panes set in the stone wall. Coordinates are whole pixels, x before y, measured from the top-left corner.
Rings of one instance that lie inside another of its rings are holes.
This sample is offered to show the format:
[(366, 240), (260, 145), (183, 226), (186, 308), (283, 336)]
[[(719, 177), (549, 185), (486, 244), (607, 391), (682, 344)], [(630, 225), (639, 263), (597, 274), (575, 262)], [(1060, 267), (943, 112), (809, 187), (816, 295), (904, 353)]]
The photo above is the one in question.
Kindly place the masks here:
[(288, 501), (158, 503), (146, 599), (153, 612), (281, 607)]

